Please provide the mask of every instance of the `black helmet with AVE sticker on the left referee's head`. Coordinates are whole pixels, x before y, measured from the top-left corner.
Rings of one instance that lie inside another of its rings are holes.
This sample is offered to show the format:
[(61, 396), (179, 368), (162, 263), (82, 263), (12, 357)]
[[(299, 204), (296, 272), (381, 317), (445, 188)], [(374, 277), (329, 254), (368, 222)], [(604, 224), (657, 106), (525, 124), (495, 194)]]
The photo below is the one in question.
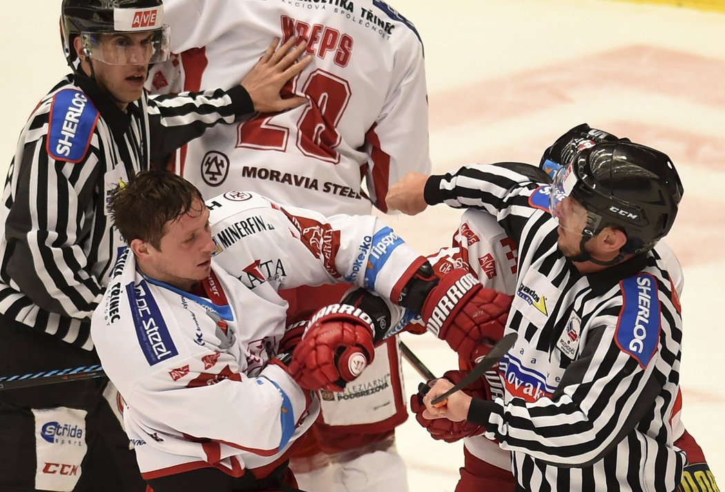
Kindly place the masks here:
[(162, 0), (63, 0), (60, 28), (65, 59), (74, 70), (78, 57), (73, 39), (81, 35), (150, 31), (156, 50), (153, 62), (168, 57)]

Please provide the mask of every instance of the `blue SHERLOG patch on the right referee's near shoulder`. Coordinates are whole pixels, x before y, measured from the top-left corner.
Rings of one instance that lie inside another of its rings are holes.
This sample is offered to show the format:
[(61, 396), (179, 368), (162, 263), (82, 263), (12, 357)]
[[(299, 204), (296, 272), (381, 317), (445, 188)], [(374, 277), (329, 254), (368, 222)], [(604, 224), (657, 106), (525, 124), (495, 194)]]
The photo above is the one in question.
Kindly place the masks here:
[(644, 368), (657, 351), (660, 339), (660, 300), (657, 279), (639, 273), (620, 283), (622, 308), (615, 333), (619, 348)]

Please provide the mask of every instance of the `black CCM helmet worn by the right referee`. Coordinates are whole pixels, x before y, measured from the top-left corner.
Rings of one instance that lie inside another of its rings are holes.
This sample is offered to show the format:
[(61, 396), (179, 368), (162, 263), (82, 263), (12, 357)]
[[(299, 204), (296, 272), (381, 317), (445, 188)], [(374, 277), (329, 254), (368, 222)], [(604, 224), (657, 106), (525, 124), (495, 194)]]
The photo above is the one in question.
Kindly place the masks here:
[(579, 151), (568, 172), (576, 175), (568, 194), (589, 215), (584, 235), (621, 228), (627, 235), (622, 251), (636, 254), (672, 228), (684, 190), (666, 154), (627, 140), (597, 143)]

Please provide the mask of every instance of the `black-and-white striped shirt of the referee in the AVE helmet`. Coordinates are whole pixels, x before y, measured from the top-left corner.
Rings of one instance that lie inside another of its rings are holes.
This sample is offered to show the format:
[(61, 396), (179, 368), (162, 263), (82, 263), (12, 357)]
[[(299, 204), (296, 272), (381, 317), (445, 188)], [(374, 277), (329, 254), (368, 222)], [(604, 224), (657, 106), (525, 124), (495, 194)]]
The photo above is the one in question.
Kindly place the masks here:
[[(68, 75), (22, 129), (0, 207), (0, 314), (93, 349), (91, 314), (124, 245), (107, 193), (218, 122), (253, 111), (244, 88), (145, 95), (121, 111)], [(1, 329), (1, 328), (0, 328)]]

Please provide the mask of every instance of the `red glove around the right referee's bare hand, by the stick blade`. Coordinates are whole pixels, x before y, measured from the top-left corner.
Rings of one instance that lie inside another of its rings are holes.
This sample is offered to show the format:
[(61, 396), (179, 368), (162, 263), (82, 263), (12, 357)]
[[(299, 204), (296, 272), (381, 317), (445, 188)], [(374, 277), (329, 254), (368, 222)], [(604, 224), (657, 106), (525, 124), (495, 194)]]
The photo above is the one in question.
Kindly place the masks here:
[[(460, 383), (460, 380), (468, 373), (468, 371), (448, 371), (443, 375), (443, 378), (449, 380), (453, 384)], [(435, 380), (428, 381), (427, 385), (421, 383), (421, 392), (415, 393), (410, 396), (410, 410), (415, 414), (415, 420), (425, 428), (432, 438), (438, 441), (446, 441), (447, 443), (455, 443), (460, 439), (468, 438), (473, 435), (479, 435), (484, 433), (484, 428), (478, 424), (468, 422), (468, 420), (461, 420), (460, 422), (452, 422), (448, 419), (434, 419), (428, 420), (423, 417), (423, 410), (426, 406), (423, 404), (423, 396), (431, 388)], [(468, 386), (463, 390), (463, 393), (473, 398), (480, 399), (491, 399), (491, 391), (486, 384), (486, 380), (481, 378), (476, 383)]]

